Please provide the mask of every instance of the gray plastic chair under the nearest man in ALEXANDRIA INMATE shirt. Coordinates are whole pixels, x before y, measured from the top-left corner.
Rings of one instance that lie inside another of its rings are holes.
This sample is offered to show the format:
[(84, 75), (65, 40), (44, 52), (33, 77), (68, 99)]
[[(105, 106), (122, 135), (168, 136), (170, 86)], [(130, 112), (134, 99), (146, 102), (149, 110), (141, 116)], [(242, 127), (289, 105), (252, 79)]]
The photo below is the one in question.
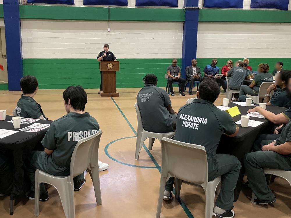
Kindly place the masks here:
[(208, 182), (208, 163), (205, 148), (201, 145), (162, 139), (162, 169), (156, 218), (160, 217), (166, 179), (175, 178), (175, 197), (180, 196), (182, 180), (203, 187), (206, 193), (205, 218), (212, 218), (215, 190), (220, 176)]

